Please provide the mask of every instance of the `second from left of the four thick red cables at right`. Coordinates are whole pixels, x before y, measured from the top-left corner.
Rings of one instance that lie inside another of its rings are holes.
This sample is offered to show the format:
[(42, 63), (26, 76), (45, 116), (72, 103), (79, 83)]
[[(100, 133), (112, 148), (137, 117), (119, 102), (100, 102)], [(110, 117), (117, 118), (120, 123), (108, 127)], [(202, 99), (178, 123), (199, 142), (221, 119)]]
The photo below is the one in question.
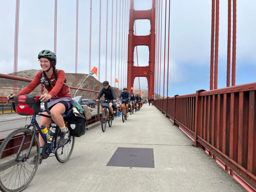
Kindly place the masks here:
[(214, 89), (218, 89), (218, 56), (219, 56), (219, 5), (216, 0), (216, 22), (215, 22), (215, 53), (214, 53)]

